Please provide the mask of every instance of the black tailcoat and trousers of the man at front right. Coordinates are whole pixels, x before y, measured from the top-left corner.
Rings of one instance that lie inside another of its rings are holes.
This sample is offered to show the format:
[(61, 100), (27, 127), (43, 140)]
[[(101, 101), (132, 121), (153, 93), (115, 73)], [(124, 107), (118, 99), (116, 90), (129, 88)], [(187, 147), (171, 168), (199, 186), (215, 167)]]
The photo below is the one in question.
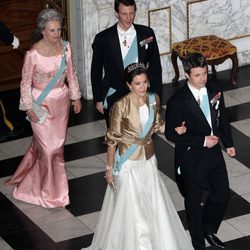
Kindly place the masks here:
[[(212, 131), (225, 148), (233, 147), (223, 95), (219, 104), (211, 104), (212, 98), (217, 94), (214, 87), (207, 86)], [(183, 121), (187, 131), (178, 135), (175, 127), (180, 126)], [(203, 232), (217, 232), (230, 196), (220, 144), (213, 148), (204, 147), (205, 136), (210, 134), (211, 127), (186, 84), (167, 103), (165, 135), (175, 143), (177, 183), (185, 198), (187, 222), (195, 249), (204, 247)], [(208, 198), (202, 209), (200, 204), (204, 190), (208, 193)]]

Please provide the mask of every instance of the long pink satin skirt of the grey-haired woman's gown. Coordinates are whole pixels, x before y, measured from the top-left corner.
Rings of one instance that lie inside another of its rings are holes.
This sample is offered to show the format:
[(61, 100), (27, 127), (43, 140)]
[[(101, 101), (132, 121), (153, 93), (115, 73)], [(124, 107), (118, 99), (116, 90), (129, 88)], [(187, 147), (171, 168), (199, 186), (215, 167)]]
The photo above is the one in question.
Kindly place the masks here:
[[(36, 97), (40, 90), (34, 89)], [(16, 185), (13, 197), (47, 208), (69, 204), (68, 180), (64, 164), (70, 99), (62, 84), (52, 89), (42, 107), (48, 111), (43, 124), (31, 122), (33, 138), (16, 172), (7, 185)]]

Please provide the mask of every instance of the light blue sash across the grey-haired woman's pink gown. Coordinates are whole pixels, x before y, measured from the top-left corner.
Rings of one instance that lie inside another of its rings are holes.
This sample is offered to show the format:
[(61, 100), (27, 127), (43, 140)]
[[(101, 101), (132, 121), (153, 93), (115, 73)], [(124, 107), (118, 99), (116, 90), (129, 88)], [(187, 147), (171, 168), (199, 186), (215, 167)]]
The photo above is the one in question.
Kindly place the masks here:
[(44, 88), (43, 92), (35, 100), (35, 103), (38, 104), (38, 105), (40, 105), (44, 101), (44, 99), (49, 94), (51, 89), (55, 86), (55, 84), (57, 83), (57, 81), (59, 80), (59, 78), (61, 77), (61, 75), (62, 75), (62, 73), (63, 73), (63, 71), (65, 69), (65, 66), (66, 66), (65, 50), (66, 50), (67, 44), (68, 44), (67, 41), (63, 41), (63, 56), (62, 56), (60, 69), (57, 71), (57, 73), (53, 77), (53, 79), (51, 79), (49, 84)]

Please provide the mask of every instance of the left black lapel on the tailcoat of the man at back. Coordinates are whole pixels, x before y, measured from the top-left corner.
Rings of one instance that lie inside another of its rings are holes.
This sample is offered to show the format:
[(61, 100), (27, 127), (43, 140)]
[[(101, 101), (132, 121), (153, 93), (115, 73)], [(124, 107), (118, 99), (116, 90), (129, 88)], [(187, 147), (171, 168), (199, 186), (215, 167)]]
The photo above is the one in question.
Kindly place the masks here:
[(122, 52), (121, 52), (121, 47), (120, 47), (120, 42), (119, 42), (119, 37), (118, 37), (118, 32), (117, 32), (117, 24), (115, 24), (111, 31), (110, 31), (110, 36), (108, 37), (108, 42), (110, 44), (110, 52), (113, 54), (113, 58), (116, 61), (116, 65), (119, 67), (120, 71), (124, 72), (124, 67), (123, 67), (123, 60), (122, 60)]

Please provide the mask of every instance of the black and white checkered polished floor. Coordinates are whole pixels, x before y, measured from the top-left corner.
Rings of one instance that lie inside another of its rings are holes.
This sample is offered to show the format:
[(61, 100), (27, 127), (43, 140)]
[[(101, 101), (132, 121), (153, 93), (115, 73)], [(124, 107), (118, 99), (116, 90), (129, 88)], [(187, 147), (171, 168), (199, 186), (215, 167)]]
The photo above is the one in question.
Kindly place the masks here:
[[(237, 156), (225, 155), (230, 178), (231, 201), (218, 232), (227, 250), (250, 249), (250, 66), (239, 69), (237, 87), (229, 84), (229, 71), (213, 81), (225, 90)], [(163, 103), (176, 86), (164, 85)], [(19, 91), (1, 93), (10, 118), (24, 130), (17, 138), (0, 143), (0, 249), (79, 250), (93, 237), (106, 188), (105, 122), (92, 101), (83, 101), (79, 115), (70, 115), (65, 161), (70, 188), (70, 210), (45, 209), (11, 198), (12, 187), (4, 181), (13, 174), (31, 141), (31, 129), (18, 111)], [(164, 114), (165, 106), (162, 107)], [(183, 198), (173, 178), (173, 145), (154, 137), (159, 171), (186, 228)], [(188, 233), (188, 232), (187, 232)], [(208, 246), (207, 249), (210, 249)], [(128, 249), (130, 250), (130, 249)], [(157, 249), (155, 249), (157, 250)], [(166, 249), (171, 250), (171, 249)]]

